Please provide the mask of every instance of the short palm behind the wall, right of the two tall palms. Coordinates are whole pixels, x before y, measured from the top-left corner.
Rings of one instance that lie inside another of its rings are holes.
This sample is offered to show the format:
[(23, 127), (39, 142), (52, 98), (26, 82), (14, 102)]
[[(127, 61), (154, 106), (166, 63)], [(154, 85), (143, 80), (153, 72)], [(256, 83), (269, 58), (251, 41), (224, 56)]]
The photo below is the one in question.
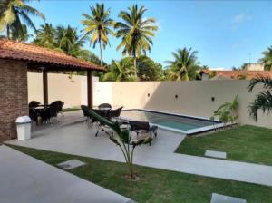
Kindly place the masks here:
[(170, 80), (189, 81), (197, 77), (198, 58), (197, 51), (191, 48), (178, 49), (176, 53), (172, 53), (174, 61), (167, 61), (170, 65)]

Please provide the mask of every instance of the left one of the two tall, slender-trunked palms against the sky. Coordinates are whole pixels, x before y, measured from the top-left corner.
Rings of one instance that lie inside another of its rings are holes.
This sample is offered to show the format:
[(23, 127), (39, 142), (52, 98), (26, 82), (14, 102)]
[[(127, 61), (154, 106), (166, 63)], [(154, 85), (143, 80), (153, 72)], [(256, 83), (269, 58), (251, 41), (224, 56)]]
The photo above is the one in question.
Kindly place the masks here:
[(96, 43), (99, 43), (100, 63), (102, 67), (102, 48), (105, 49), (109, 43), (108, 35), (113, 34), (111, 27), (114, 23), (110, 18), (110, 9), (105, 10), (103, 4), (96, 4), (95, 7), (90, 7), (90, 9), (91, 15), (83, 14), (85, 17), (85, 19), (82, 20), (84, 26), (83, 31), (85, 35), (92, 35), (90, 44), (93, 44), (93, 48), (95, 48)]

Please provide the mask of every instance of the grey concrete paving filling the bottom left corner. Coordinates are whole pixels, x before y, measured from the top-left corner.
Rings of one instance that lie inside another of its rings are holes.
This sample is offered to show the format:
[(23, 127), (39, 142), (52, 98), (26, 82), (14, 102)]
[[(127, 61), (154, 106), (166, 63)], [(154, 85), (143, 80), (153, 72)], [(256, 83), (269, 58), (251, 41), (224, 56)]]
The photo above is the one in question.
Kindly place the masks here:
[(4, 145), (0, 146), (0, 154), (1, 203), (130, 202), (129, 198)]

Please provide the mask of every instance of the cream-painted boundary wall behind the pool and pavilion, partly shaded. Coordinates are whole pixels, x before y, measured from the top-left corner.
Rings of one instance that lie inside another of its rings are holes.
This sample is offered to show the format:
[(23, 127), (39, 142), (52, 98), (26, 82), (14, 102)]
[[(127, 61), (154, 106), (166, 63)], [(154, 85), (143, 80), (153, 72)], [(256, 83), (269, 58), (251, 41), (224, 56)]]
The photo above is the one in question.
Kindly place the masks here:
[[(49, 102), (62, 100), (65, 106), (76, 106), (87, 102), (85, 76), (49, 73)], [(259, 113), (256, 123), (248, 115), (248, 103), (253, 93), (247, 91), (248, 81), (193, 81), (193, 82), (98, 82), (93, 79), (93, 103), (112, 103), (124, 108), (140, 108), (170, 111), (209, 118), (223, 102), (230, 102), (235, 95), (239, 100), (239, 121), (272, 128), (272, 116)], [(42, 73), (28, 73), (29, 101), (43, 101)], [(150, 96), (148, 96), (150, 95)], [(178, 95), (178, 98), (175, 98)], [(215, 101), (212, 102), (211, 98)]]

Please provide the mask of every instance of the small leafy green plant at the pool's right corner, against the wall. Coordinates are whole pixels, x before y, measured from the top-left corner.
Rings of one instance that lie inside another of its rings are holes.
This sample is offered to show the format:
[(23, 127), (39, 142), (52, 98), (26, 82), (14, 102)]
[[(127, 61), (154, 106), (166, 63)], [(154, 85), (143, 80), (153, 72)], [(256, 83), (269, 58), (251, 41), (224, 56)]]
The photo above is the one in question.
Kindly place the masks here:
[(225, 102), (217, 111), (214, 112), (213, 116), (210, 117), (211, 120), (216, 118), (219, 121), (223, 121), (226, 125), (228, 122), (233, 124), (235, 121), (238, 121), (238, 96), (236, 95), (232, 102)]

